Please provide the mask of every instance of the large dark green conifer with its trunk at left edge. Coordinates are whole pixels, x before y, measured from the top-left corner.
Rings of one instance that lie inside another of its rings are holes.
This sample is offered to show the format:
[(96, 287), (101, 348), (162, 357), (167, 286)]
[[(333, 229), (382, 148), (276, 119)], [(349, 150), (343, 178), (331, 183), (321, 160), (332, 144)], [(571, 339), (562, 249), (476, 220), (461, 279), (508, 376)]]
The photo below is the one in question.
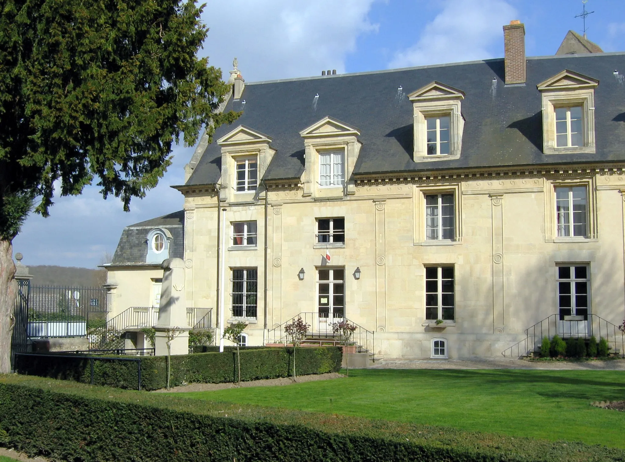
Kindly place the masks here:
[[(27, 213), (98, 184), (128, 210), (171, 164), (237, 114), (198, 59), (207, 29), (192, 0), (0, 0), (0, 373), (9, 371), (11, 241)], [(68, 229), (68, 233), (71, 230)]]

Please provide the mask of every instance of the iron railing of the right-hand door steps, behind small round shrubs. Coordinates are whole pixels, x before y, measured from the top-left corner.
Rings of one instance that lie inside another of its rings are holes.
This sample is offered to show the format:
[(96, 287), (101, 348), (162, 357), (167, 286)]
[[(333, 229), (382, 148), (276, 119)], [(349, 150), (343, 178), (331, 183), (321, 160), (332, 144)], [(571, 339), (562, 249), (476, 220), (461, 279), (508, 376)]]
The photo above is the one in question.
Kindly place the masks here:
[(594, 336), (598, 341), (604, 338), (612, 351), (619, 351), (625, 357), (625, 336), (616, 324), (612, 324), (597, 314), (584, 314), (583, 316), (550, 314), (526, 329), (525, 338), (504, 349), (501, 354), (504, 358), (527, 356), (532, 351), (539, 350), (542, 338), (547, 337), (551, 340), (556, 334), (563, 339), (571, 337), (589, 339)]

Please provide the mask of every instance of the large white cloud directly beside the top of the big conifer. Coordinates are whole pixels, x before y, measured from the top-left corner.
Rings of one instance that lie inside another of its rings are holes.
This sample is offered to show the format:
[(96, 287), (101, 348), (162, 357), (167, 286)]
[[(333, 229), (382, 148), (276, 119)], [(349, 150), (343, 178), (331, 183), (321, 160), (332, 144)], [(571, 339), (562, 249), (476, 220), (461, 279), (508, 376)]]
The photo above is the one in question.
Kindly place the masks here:
[(377, 30), (367, 18), (374, 0), (232, 0), (209, 2), (203, 53), (224, 79), (239, 59), (246, 81), (317, 76), (345, 71), (359, 35)]

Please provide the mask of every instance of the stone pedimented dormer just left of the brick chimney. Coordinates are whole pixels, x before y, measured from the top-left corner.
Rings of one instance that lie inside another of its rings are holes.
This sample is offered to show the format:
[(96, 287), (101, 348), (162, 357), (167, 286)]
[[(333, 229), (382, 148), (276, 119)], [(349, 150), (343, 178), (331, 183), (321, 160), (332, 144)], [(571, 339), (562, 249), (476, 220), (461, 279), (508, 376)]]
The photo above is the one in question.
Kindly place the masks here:
[(408, 95), (412, 101), (415, 162), (457, 159), (462, 149), (464, 92), (433, 81)]

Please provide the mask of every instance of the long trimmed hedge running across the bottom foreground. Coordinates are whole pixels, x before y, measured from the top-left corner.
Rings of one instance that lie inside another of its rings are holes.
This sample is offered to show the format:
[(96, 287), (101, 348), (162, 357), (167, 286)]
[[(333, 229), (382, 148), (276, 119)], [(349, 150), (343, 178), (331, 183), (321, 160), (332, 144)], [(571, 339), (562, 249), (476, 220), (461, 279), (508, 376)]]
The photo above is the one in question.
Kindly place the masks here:
[(0, 376), (0, 445), (68, 461), (623, 461), (625, 451)]

